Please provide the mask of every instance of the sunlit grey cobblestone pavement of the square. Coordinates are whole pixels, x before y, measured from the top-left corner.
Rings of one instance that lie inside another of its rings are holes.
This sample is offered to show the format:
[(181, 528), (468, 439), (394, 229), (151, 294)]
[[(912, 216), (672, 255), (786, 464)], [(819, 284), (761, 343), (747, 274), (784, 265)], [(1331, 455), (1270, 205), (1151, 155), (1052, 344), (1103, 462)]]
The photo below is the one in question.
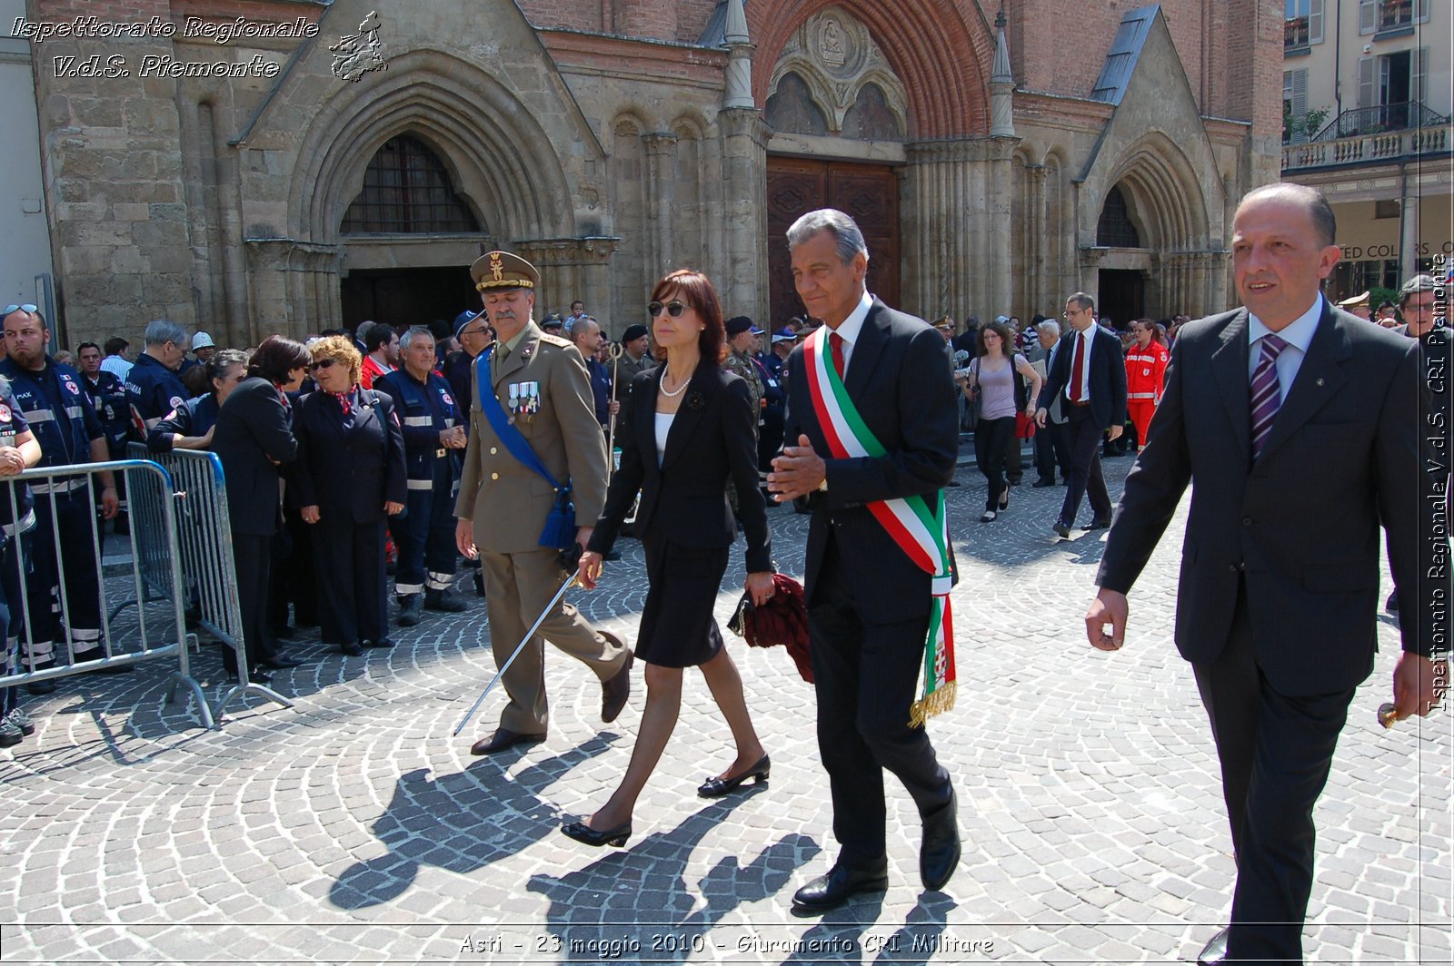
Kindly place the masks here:
[[(1106, 462), (1114, 488), (1130, 462)], [(628, 847), (566, 840), (561, 821), (603, 802), (625, 767), (640, 675), (628, 710), (602, 726), (593, 678), (553, 652), (550, 739), (471, 758), (500, 702), (451, 738), (494, 671), (483, 603), (470, 597), (467, 614), (433, 614), (388, 652), (294, 645), (311, 662), (273, 680), (297, 707), (253, 700), (220, 731), (163, 703), (156, 665), (29, 699), (36, 735), (0, 751), (0, 956), (1188, 962), (1224, 921), (1234, 870), (1211, 735), (1169, 639), (1184, 516), (1131, 594), (1125, 649), (1106, 655), (1082, 623), (1101, 533), (1056, 542), (1063, 491), (1032, 490), (1029, 475), (1009, 511), (980, 524), (983, 481), (973, 468), (960, 479), (958, 706), (929, 728), (958, 787), (965, 848), (942, 893), (919, 885), (917, 818), (888, 780), (887, 895), (822, 921), (790, 914), (794, 889), (835, 854), (813, 691), (785, 652), (749, 654), (736, 638), (771, 782), (695, 797), (731, 742), (689, 674)], [(781, 568), (801, 572), (807, 517), (776, 508), (772, 523)], [(571, 594), (630, 638), (641, 549), (621, 549), (601, 590)], [(742, 580), (734, 558), (723, 622)], [(1454, 719), (1378, 728), (1396, 635), (1381, 616), (1383, 652), (1317, 809), (1310, 962), (1451, 959)], [(215, 649), (201, 664), (215, 694)]]

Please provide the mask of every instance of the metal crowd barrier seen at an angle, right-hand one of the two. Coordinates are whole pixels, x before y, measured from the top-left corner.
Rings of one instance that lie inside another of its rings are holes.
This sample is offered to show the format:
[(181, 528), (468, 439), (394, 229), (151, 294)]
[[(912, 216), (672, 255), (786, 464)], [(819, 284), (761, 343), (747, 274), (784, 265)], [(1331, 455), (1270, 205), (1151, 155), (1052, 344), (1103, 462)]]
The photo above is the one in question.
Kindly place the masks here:
[[(236, 699), (246, 693), (260, 694), (284, 707), (292, 702), (254, 681), (247, 680), (247, 654), (243, 646), (243, 613), (237, 603), (237, 565), (233, 556), (231, 516), (227, 510), (227, 487), (222, 479), (222, 460), (215, 453), (195, 449), (174, 449), (167, 453), (148, 452), (141, 443), (131, 443), (128, 452), (160, 463), (173, 482), (173, 501), (167, 513), (179, 523), (176, 552), (172, 556), (180, 568), (185, 593), (179, 596), (189, 616), (208, 633), (233, 648), (237, 655), (237, 684), (222, 694), (215, 706), (218, 716)], [(158, 507), (161, 500), (142, 500), (131, 495), (131, 478), (126, 478), (131, 498), (132, 533), (138, 524), (148, 529), (153, 520), (145, 514)], [(138, 513), (140, 510), (140, 513)], [(148, 564), (150, 565), (150, 564)]]

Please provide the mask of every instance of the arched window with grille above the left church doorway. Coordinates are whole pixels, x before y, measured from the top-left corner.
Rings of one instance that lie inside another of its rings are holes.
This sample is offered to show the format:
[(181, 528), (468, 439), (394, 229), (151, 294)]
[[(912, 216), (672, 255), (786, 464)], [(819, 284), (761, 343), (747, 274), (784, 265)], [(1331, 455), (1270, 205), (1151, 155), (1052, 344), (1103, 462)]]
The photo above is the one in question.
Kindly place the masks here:
[(449, 171), (422, 141), (390, 138), (368, 163), (364, 190), (343, 215), (343, 234), (454, 234), (480, 231), (455, 193)]

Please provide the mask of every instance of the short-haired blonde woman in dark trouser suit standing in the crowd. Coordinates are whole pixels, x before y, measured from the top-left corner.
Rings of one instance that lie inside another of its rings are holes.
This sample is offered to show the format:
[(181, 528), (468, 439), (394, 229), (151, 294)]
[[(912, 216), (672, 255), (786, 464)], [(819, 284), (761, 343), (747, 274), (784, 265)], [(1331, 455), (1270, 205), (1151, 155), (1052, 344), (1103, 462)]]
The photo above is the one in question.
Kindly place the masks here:
[(391, 648), (384, 593), (384, 517), (404, 508), (404, 436), (387, 392), (359, 386), (352, 338), (311, 343), (316, 392), (298, 399), (292, 481), (313, 529), (323, 642), (358, 657)]

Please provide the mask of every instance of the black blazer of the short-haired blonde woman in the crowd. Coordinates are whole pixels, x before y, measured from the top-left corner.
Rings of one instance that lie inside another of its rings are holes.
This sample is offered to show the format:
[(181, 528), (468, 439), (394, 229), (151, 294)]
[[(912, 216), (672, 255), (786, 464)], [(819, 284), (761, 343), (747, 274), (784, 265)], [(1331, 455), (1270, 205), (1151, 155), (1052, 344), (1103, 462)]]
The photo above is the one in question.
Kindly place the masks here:
[(384, 519), (385, 500), (404, 503), (404, 436), (387, 392), (359, 388), (348, 431), (327, 392), (300, 398), (292, 423), (298, 462), (291, 479), (300, 507), (318, 507), (320, 520), (375, 523)]

